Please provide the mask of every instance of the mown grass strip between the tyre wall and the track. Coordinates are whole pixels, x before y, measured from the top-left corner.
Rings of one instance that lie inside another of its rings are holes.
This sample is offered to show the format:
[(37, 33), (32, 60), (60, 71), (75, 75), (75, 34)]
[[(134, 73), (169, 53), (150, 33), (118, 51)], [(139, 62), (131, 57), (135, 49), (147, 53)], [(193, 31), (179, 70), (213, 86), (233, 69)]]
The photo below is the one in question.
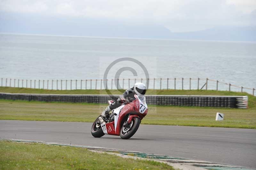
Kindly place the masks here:
[[(102, 112), (101, 107), (107, 105), (107, 103), (47, 103), (2, 99), (0, 119), (93, 122)], [(255, 107), (249, 109), (156, 105), (148, 107), (148, 115), (141, 121), (142, 124), (256, 129)], [(223, 121), (215, 121), (216, 112), (225, 114)]]

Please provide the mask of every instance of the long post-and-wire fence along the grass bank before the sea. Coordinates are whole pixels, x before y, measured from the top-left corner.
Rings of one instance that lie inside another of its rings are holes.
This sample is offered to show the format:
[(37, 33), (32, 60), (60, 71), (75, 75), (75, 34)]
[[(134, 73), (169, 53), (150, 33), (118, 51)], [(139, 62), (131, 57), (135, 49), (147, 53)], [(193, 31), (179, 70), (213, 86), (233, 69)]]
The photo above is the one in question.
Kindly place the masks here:
[(247, 92), (254, 96), (254, 88), (200, 78), (153, 78), (153, 79), (86, 79), (86, 80), (24, 80), (1, 78), (1, 87), (30, 89), (77, 90), (77, 89), (129, 89), (134, 83), (143, 82), (148, 89), (221, 90)]

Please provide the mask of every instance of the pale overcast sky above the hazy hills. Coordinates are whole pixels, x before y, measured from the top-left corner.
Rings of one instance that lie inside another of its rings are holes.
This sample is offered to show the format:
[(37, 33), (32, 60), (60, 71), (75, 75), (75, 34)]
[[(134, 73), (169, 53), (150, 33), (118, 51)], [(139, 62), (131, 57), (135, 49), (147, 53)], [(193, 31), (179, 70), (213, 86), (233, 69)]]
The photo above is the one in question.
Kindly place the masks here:
[(256, 23), (256, 0), (0, 0), (0, 11), (111, 19), (160, 25), (172, 32)]

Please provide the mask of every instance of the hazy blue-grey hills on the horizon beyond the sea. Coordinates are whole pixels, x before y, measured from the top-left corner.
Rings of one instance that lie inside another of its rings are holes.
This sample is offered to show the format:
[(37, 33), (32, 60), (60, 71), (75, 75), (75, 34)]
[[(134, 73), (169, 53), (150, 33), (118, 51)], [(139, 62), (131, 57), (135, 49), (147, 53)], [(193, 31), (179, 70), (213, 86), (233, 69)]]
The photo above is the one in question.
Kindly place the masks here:
[(202, 31), (173, 33), (169, 29), (157, 25), (134, 26), (107, 19), (58, 18), (3, 12), (0, 13), (0, 23), (1, 33), (256, 41), (256, 27), (215, 27)]

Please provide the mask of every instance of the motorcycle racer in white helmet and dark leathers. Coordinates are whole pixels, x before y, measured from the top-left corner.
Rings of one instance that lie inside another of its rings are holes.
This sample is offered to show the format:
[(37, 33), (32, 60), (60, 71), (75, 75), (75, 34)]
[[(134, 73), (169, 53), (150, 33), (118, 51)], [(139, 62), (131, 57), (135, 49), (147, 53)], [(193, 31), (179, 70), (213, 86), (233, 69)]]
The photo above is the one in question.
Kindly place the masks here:
[(108, 105), (106, 109), (101, 113), (101, 115), (106, 118), (109, 112), (123, 104), (125, 100), (135, 100), (134, 94), (139, 95), (139, 96), (144, 96), (146, 93), (146, 86), (145, 84), (141, 82), (137, 82), (134, 84), (134, 86), (131, 89), (127, 89), (124, 91), (122, 95), (119, 96), (119, 98)]

